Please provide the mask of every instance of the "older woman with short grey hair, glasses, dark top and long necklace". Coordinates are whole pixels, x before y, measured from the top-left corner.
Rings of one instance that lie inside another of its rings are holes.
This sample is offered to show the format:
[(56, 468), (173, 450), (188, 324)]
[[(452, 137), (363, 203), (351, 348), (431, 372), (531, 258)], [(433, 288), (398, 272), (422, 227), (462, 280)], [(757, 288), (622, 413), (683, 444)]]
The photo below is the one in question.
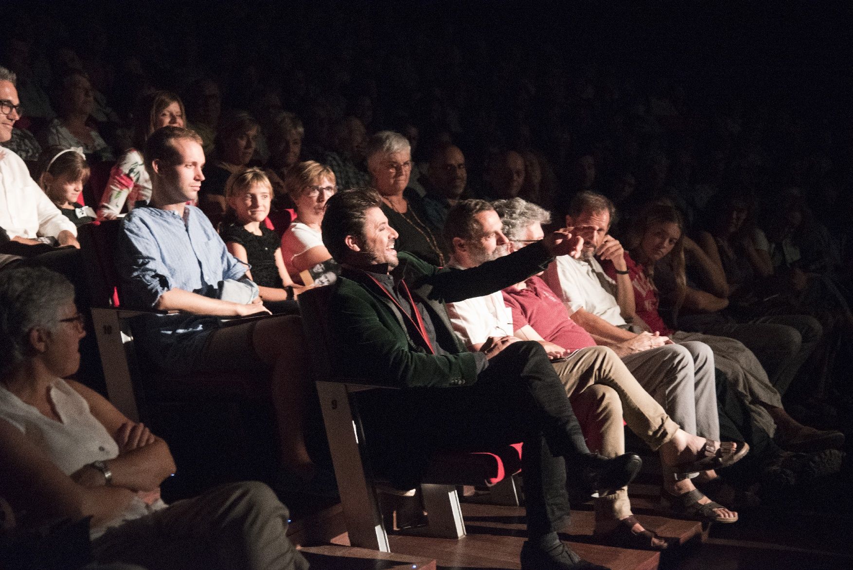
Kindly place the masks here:
[(382, 197), (382, 212), (399, 234), (397, 249), (415, 253), (433, 265), (444, 265), (444, 241), (438, 231), (426, 224), (421, 196), (409, 189), (409, 141), (397, 132), (380, 131), (370, 137), (365, 155), (373, 187)]

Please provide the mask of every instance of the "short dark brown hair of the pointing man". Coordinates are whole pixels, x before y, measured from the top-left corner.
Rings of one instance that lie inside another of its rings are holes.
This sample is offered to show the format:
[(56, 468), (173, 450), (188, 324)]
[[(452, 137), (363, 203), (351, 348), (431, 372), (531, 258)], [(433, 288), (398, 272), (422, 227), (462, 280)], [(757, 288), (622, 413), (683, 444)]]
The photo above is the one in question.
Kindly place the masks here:
[(338, 263), (349, 253), (346, 236), (364, 238), (364, 220), (370, 208), (381, 208), (382, 198), (372, 188), (351, 188), (332, 196), (326, 202), (321, 230), (322, 242)]

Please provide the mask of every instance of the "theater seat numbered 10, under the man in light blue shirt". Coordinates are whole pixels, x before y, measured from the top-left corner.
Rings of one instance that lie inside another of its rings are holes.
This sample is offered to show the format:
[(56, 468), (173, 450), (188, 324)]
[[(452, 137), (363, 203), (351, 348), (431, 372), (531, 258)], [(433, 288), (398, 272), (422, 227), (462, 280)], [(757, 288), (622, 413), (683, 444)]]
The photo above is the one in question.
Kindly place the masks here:
[[(189, 490), (197, 492), (200, 489), (196, 486), (222, 482), (216, 479), (220, 475), (222, 479), (270, 477), (276, 468), (277, 432), (268, 378), (233, 372), (177, 375), (136, 351), (134, 319), (164, 313), (122, 307), (119, 276), (113, 265), (120, 224), (121, 220), (102, 220), (78, 229), (107, 397), (131, 420), (157, 428), (173, 451), (177, 449), (176, 459), (183, 458), (179, 461), (182, 466), (190, 466), (182, 470)], [(194, 428), (187, 425), (189, 417), (205, 422), (206, 426), (199, 429), (220, 437), (222, 449), (209, 449), (215, 448), (216, 442), (193, 433)], [(258, 450), (258, 445), (266, 447)], [(181, 453), (183, 457), (178, 457)], [(212, 471), (206, 466), (217, 461), (216, 473), (188, 474), (192, 468)]]

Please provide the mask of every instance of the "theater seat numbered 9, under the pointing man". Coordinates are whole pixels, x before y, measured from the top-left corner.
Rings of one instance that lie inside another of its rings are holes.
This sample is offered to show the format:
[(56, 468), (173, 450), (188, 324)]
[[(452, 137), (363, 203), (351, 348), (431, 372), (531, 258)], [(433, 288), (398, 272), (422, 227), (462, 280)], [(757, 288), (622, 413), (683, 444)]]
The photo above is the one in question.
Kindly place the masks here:
[[(395, 390), (368, 379), (344, 378), (332, 373), (328, 358), (328, 294), (330, 287), (312, 288), (299, 295), (312, 370), (320, 396), (323, 421), (352, 546), (388, 552), (388, 538), (374, 485), (383, 482), (367, 460), (368, 446), (358, 414), (357, 393)], [(518, 504), (513, 475), (521, 470), (521, 445), (475, 452), (447, 451), (433, 457), (421, 481), (427, 510), (427, 529), (420, 534), (442, 538), (465, 536), (456, 486), (490, 486), (499, 490), (494, 503)]]

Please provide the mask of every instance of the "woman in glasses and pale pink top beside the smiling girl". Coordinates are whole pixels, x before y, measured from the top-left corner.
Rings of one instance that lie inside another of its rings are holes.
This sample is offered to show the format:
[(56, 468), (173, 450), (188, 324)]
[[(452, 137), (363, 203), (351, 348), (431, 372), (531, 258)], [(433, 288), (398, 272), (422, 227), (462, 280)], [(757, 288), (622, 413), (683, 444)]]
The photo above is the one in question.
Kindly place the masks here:
[[(296, 218), (281, 236), (281, 256), (294, 282), (305, 283), (308, 271), (316, 285), (334, 282), (339, 267), (322, 243), (323, 214), (326, 201), (338, 191), (334, 172), (314, 160), (298, 162), (287, 170), (285, 188), (293, 204)], [(310, 284), (310, 283), (305, 283)]]

